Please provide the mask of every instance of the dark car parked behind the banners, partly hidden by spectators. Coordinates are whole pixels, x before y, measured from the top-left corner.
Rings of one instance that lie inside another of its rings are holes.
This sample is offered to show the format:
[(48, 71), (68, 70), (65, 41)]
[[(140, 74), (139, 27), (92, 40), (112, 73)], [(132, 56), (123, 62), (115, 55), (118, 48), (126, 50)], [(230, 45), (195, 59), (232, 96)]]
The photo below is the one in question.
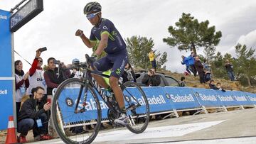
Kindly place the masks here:
[[(146, 86), (145, 84), (142, 84), (142, 79), (145, 74), (147, 74), (147, 71), (145, 70), (135, 73), (137, 84), (139, 84), (140, 86)], [(176, 79), (174, 79), (174, 77), (166, 75), (162, 72), (156, 72), (156, 74), (160, 75), (161, 77), (161, 83), (159, 87), (165, 87), (165, 86), (180, 87), (179, 82)]]

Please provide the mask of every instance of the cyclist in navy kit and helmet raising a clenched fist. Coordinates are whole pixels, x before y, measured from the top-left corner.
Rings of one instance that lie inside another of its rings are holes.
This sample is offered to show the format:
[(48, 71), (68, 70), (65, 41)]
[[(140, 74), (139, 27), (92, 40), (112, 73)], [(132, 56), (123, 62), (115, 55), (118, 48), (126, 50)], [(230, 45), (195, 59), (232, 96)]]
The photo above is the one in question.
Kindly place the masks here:
[(102, 7), (97, 2), (89, 2), (86, 4), (84, 14), (93, 25), (90, 38), (87, 38), (80, 29), (75, 32), (75, 35), (80, 36), (82, 42), (85, 43), (88, 48), (94, 47), (97, 44), (97, 40), (99, 41), (93, 55), (100, 55), (103, 50), (107, 52), (107, 56), (92, 63), (92, 69), (102, 72), (112, 69), (110, 85), (96, 74), (92, 74), (92, 77), (94, 77), (101, 87), (104, 87), (109, 92), (114, 92), (120, 112), (122, 113), (119, 118), (114, 120), (114, 123), (125, 126), (128, 123), (128, 116), (124, 106), (124, 96), (118, 85), (118, 79), (124, 72), (124, 67), (128, 62), (126, 44), (114, 24), (110, 20), (102, 18), (101, 9)]

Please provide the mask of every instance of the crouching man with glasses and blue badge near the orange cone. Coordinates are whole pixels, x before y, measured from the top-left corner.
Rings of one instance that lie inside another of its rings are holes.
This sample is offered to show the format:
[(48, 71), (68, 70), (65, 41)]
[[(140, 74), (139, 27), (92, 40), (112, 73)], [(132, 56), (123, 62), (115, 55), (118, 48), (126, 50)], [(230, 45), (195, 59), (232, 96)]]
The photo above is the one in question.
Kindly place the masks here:
[(43, 87), (36, 87), (33, 89), (33, 97), (27, 99), (21, 106), (21, 111), (18, 113), (18, 126), (17, 131), (19, 135), (19, 143), (27, 143), (26, 135), (28, 131), (33, 129), (34, 138), (40, 137), (40, 140), (50, 140), (52, 137), (48, 135), (48, 118), (46, 111), (50, 109), (50, 104), (39, 103), (43, 99)]

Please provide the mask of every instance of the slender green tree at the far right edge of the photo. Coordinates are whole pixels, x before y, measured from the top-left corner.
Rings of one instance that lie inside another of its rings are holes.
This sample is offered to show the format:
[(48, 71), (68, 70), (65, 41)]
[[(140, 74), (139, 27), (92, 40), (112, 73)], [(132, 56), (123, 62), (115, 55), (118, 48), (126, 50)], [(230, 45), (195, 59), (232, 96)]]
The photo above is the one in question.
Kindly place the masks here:
[(256, 76), (255, 50), (252, 50), (252, 48), (248, 49), (246, 45), (238, 43), (235, 46), (235, 53), (238, 56), (237, 71), (245, 76), (249, 87), (251, 87), (250, 79)]

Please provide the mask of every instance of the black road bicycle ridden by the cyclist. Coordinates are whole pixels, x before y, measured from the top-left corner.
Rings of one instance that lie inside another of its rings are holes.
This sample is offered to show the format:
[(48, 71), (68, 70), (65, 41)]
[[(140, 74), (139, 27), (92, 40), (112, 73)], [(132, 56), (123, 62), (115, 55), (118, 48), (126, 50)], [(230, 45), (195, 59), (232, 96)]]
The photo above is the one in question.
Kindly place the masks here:
[[(103, 108), (109, 108), (107, 116), (103, 116), (103, 119), (107, 119), (110, 123), (113, 123), (114, 119), (121, 114), (114, 96), (102, 89), (91, 74), (107, 78), (110, 76), (90, 70), (93, 57), (86, 54), (85, 58), (86, 62), (80, 62), (79, 65), (76, 65), (77, 68), (82, 69), (82, 78), (66, 79), (58, 86), (53, 96), (51, 107), (53, 126), (65, 143), (92, 143), (100, 131)], [(135, 82), (124, 84), (119, 82), (119, 86), (124, 94), (127, 116), (129, 116), (127, 129), (132, 133), (144, 132), (149, 123), (149, 103), (146, 95)], [(99, 96), (103, 102), (99, 100)], [(70, 134), (69, 128), (78, 126), (81, 128), (81, 126), (91, 124), (94, 124), (95, 128)]]

